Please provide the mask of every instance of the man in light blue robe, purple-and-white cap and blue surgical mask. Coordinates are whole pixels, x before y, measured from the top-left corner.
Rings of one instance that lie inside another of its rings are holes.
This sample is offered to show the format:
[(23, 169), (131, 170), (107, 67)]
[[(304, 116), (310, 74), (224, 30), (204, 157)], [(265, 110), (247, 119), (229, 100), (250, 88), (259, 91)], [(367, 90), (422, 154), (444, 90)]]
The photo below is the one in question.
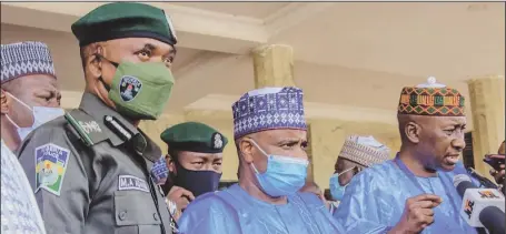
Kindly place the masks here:
[(204, 194), (185, 210), (185, 234), (344, 233), (312, 193), (307, 176), (302, 91), (265, 88), (232, 105), (239, 183)]

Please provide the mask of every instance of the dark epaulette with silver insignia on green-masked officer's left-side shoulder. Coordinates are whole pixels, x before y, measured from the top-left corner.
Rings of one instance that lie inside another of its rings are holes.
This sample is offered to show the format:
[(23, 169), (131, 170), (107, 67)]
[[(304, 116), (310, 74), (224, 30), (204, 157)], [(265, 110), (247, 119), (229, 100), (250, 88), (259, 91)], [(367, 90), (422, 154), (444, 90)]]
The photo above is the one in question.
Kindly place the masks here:
[(100, 124), (81, 110), (76, 109), (66, 112), (65, 119), (76, 130), (81, 141), (88, 146), (92, 146), (108, 139), (107, 134), (102, 132)]

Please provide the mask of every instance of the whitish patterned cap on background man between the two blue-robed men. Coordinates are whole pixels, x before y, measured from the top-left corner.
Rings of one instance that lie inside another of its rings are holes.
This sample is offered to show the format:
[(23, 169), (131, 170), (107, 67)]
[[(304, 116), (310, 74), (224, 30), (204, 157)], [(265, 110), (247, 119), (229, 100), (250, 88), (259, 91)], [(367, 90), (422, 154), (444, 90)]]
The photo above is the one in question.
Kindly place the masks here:
[(390, 149), (370, 136), (350, 135), (346, 139), (339, 157), (364, 166), (373, 166), (390, 159)]

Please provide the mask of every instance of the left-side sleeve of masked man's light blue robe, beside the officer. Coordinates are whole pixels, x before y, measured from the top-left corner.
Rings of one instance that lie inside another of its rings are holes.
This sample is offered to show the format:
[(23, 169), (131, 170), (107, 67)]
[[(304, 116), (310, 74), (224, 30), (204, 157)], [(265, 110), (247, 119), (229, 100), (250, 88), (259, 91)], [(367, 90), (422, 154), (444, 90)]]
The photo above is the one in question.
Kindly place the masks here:
[(181, 234), (240, 234), (239, 220), (220, 199), (206, 196), (190, 203), (178, 221)]

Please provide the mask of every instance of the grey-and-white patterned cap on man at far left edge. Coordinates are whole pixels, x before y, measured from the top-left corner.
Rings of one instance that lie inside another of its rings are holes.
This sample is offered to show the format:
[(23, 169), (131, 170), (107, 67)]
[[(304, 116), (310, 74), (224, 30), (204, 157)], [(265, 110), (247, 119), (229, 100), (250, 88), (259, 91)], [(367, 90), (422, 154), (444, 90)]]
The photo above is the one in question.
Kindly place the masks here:
[(48, 45), (39, 41), (24, 41), (1, 47), (1, 83), (30, 74), (49, 74), (56, 78)]

